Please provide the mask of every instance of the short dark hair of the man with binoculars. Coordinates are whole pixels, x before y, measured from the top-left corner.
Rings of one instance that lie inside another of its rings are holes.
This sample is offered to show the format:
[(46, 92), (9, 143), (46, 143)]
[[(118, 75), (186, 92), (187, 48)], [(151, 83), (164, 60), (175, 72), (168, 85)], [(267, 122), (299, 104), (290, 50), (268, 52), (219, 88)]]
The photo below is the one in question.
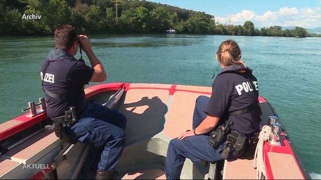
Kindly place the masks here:
[(77, 40), (76, 28), (69, 24), (63, 24), (55, 30), (56, 48), (68, 50)]

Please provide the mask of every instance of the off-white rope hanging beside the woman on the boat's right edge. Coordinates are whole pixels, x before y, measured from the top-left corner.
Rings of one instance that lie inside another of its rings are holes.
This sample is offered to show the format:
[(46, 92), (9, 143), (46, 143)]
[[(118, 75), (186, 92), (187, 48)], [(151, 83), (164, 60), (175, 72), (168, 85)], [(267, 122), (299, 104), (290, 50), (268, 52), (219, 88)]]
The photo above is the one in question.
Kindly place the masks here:
[(253, 167), (255, 168), (255, 160), (256, 160), (256, 178), (257, 179), (265, 179), (266, 171), (265, 165), (263, 161), (263, 145), (264, 141), (267, 141), (272, 134), (271, 127), (268, 125), (264, 125), (259, 135), (259, 140), (256, 145), (254, 159), (253, 159)]

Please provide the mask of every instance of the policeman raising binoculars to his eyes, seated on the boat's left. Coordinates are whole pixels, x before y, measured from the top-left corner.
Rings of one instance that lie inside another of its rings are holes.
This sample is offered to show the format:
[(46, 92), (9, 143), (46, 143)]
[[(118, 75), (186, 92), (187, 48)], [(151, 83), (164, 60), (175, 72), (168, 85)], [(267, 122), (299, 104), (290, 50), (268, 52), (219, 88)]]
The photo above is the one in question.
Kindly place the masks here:
[[(78, 50), (77, 40), (86, 52), (91, 67), (73, 56)], [(76, 114), (69, 114), (73, 116), (74, 123), (65, 125), (67, 134), (93, 147), (105, 146), (96, 179), (108, 179), (123, 150), (126, 117), (98, 103), (86, 102), (84, 84), (106, 80), (105, 70), (95, 56), (88, 37), (77, 35), (71, 25), (60, 25), (55, 30), (55, 45), (56, 48), (49, 52), (41, 66), (47, 115), (54, 123), (66, 123), (66, 113), (70, 112), (69, 107), (73, 107)], [(78, 118), (75, 119), (75, 116)], [(62, 134), (58, 132), (58, 135)]]

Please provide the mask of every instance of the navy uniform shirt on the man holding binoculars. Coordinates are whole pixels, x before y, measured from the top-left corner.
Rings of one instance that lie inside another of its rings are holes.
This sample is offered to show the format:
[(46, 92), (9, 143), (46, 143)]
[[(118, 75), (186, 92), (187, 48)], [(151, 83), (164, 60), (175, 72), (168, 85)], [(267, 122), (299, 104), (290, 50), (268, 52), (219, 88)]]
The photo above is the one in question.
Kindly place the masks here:
[[(50, 60), (46, 74), (43, 74), (46, 62)], [(82, 110), (86, 105), (84, 84), (88, 84), (93, 68), (77, 60), (73, 55), (62, 49), (53, 49), (41, 65), (40, 76), (48, 91), (56, 94), (68, 94), (66, 99), (57, 99), (46, 94), (47, 115), (55, 118), (64, 115), (65, 110), (75, 106)]]

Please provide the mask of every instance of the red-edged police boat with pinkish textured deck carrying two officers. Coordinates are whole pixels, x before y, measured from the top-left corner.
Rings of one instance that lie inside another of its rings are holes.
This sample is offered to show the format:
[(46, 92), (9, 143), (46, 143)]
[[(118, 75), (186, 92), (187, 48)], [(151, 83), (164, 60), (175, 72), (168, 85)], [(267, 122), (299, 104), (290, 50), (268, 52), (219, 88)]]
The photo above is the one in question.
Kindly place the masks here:
[[(88, 102), (104, 104), (127, 117), (127, 141), (115, 178), (165, 179), (169, 141), (192, 129), (195, 100), (210, 96), (211, 91), (212, 87), (205, 86), (152, 83), (86, 88)], [(264, 126), (253, 154), (256, 158), (196, 163), (186, 159), (182, 179), (310, 178), (275, 110), (263, 97), (258, 100)], [(45, 126), (51, 120), (44, 98), (37, 104), (29, 102), (23, 110), (28, 112), (0, 124), (0, 179), (94, 178), (99, 149), (79, 141), (62, 142), (55, 132), (47, 132)]]

